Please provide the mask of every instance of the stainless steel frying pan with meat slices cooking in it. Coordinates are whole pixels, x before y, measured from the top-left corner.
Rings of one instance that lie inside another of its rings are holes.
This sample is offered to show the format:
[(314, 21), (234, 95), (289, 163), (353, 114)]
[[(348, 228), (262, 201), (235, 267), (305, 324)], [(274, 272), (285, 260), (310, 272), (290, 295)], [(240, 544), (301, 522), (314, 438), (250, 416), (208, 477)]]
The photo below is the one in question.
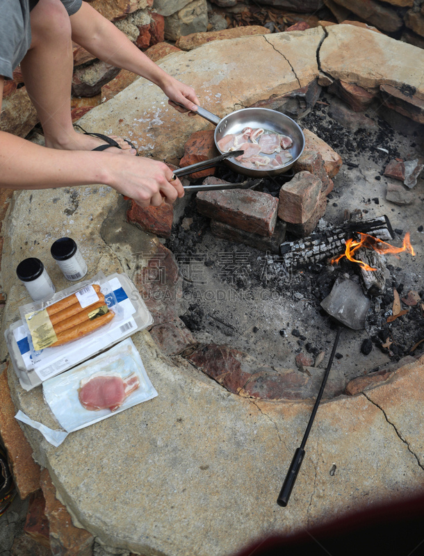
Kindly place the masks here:
[(302, 129), (300, 129), (291, 117), (281, 112), (270, 110), (269, 108), (242, 108), (241, 110), (220, 118), (207, 111), (205, 108), (202, 108), (202, 106), (197, 106), (197, 111), (195, 113), (204, 117), (208, 122), (216, 125), (214, 134), (215, 146), (220, 153), (223, 153), (223, 151), (218, 147), (218, 141), (228, 135), (228, 133), (241, 133), (245, 127), (251, 127), (252, 129), (262, 127), (273, 133), (287, 135), (292, 138), (293, 145), (287, 150), (291, 153), (293, 158), (291, 158), (286, 165), (275, 168), (275, 170), (251, 170), (238, 163), (234, 158), (226, 160), (225, 163), (239, 174), (255, 178), (284, 174), (284, 172), (287, 172), (287, 170), (293, 166), (297, 158), (299, 158), (303, 152), (304, 135)]

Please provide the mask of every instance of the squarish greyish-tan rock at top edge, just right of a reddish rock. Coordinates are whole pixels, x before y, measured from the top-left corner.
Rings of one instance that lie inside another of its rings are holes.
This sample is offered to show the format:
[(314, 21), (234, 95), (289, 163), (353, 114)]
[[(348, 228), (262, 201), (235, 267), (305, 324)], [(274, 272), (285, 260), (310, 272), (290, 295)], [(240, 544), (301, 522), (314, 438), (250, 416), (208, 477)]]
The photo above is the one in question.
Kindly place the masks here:
[(194, 0), (165, 19), (165, 39), (178, 40), (181, 35), (202, 33), (207, 28), (206, 0)]

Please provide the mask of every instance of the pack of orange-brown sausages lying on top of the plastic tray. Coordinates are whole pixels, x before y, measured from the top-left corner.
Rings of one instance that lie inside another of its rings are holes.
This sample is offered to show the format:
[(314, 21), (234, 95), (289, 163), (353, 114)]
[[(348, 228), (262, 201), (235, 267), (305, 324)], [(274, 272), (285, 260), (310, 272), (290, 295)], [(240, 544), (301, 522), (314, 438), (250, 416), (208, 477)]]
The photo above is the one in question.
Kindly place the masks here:
[(91, 281), (74, 284), (47, 303), (33, 302), (20, 308), (31, 349), (39, 357), (42, 350), (58, 347), (103, 329), (115, 318), (109, 306), (114, 293), (102, 272)]

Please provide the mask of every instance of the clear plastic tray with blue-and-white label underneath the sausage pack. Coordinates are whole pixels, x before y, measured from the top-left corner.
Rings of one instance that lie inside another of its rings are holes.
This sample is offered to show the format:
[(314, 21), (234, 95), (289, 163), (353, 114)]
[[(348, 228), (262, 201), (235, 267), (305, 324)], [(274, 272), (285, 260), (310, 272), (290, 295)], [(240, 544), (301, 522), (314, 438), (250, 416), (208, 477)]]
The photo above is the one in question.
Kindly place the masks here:
[[(100, 292), (104, 295), (108, 309), (115, 313), (115, 317), (104, 327), (100, 327), (76, 341), (70, 341), (57, 347), (46, 347), (42, 350), (34, 350), (26, 321), (18, 320), (6, 329), (5, 338), (10, 359), (19, 382), (26, 391), (82, 361), (94, 357), (115, 343), (152, 324), (152, 315), (147, 310), (136, 286), (126, 274), (115, 273), (107, 278), (103, 276), (102, 279), (100, 279), (100, 275), (97, 275), (97, 278), (99, 278)], [(73, 284), (70, 288), (57, 293), (49, 304), (43, 304), (42, 308), (45, 309), (54, 302), (63, 300), (94, 281), (93, 279)], [(40, 308), (40, 304), (35, 303), (22, 307), (25, 314)]]

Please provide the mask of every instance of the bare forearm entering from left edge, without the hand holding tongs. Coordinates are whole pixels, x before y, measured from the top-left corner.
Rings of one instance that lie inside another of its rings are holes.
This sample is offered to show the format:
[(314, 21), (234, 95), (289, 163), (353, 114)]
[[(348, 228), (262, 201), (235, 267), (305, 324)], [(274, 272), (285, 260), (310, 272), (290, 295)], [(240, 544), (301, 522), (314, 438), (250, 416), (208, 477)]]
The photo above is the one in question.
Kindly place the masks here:
[(60, 151), (0, 131), (0, 186), (47, 189), (108, 184), (102, 158), (90, 151)]

